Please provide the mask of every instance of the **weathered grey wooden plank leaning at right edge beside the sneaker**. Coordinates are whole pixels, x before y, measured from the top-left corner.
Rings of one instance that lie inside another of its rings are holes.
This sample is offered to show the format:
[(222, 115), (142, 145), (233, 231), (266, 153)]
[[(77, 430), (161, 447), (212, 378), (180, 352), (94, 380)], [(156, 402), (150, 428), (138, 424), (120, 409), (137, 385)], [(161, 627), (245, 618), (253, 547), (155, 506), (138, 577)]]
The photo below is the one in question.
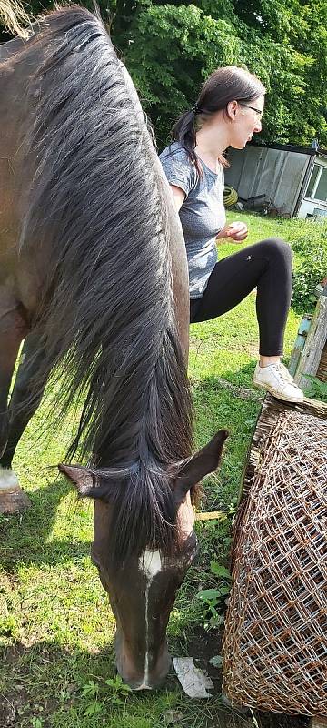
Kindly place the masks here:
[(318, 298), (317, 306), (312, 316), (312, 324), (294, 377), (301, 389), (305, 389), (309, 384), (309, 380), (303, 376), (304, 374), (311, 374), (313, 377), (316, 375), (326, 339), (327, 297), (322, 295)]

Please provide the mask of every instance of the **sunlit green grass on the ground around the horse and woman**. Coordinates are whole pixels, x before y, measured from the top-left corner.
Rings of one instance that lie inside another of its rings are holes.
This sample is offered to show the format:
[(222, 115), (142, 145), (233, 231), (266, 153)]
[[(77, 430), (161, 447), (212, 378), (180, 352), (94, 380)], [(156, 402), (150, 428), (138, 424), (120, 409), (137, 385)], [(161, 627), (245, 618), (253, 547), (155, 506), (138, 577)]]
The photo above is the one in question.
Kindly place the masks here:
[[(296, 223), (239, 213), (230, 218), (248, 221), (249, 243), (276, 235), (276, 228), (278, 235), (290, 239)], [(220, 255), (239, 248), (222, 246)], [(298, 323), (299, 317), (291, 311), (286, 357)], [(222, 510), (225, 515), (220, 521), (197, 523), (201, 555), (179, 592), (169, 625), (174, 654), (187, 654), (190, 635), (197, 633), (199, 625), (203, 629), (205, 610), (196, 594), (214, 586), (210, 561), (227, 563), (231, 515), (263, 399), (252, 386), (257, 344), (254, 296), (223, 318), (191, 328), (197, 444), (203, 445), (221, 427), (227, 427), (231, 436), (221, 470), (204, 484), (203, 510)], [(209, 728), (253, 724), (228, 711), (217, 697), (206, 703), (189, 700), (173, 676), (163, 692), (150, 695), (125, 695), (119, 684), (105, 685), (114, 674), (114, 618), (89, 559), (92, 504), (76, 502), (69, 485), (49, 469), (49, 464), (61, 459), (68, 436), (49, 440), (45, 446), (35, 442), (35, 430), (44, 417), (41, 408), (25, 431), (15, 459), (32, 508), (20, 515), (0, 516), (0, 725)], [(214, 655), (217, 633), (211, 634)], [(95, 688), (92, 684), (87, 688), (90, 681)], [(114, 702), (114, 695), (121, 703)]]

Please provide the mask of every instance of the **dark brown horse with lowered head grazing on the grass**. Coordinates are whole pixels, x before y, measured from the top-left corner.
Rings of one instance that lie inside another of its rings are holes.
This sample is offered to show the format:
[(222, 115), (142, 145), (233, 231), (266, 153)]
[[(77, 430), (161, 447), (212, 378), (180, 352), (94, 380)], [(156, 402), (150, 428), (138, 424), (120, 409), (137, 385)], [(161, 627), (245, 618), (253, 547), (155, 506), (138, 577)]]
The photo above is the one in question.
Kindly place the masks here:
[[(1, 464), (10, 468), (48, 381), (55, 426), (81, 407), (59, 469), (94, 500), (92, 559), (116, 620), (116, 668), (134, 690), (154, 689), (196, 551), (192, 502), (227, 435), (192, 454), (182, 230), (98, 15), (63, 6), (2, 46), (0, 123)], [(86, 465), (71, 464), (76, 453)]]

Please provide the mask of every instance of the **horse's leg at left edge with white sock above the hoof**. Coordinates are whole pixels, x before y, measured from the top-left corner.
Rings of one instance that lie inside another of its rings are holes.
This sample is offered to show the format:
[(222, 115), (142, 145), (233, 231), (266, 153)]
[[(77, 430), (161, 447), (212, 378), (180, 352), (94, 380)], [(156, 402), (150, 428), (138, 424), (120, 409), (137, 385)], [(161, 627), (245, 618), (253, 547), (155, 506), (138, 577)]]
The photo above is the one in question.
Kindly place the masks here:
[[(0, 454), (4, 453), (9, 437), (8, 393), (15, 360), (26, 333), (23, 312), (15, 298), (0, 286)], [(6, 473), (0, 480), (0, 512), (19, 511), (26, 501), (18, 483)]]

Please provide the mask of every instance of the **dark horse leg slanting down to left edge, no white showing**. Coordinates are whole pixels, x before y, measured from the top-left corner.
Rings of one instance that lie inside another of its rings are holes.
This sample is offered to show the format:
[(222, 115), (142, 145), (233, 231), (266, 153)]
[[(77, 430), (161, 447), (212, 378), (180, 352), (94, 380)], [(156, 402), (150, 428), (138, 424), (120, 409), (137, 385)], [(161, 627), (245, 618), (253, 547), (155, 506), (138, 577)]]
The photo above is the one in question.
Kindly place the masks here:
[(39, 340), (40, 334), (38, 331), (28, 334), (25, 339), (8, 410), (9, 437), (5, 452), (0, 458), (0, 467), (3, 468), (11, 468), (17, 444), (29, 420), (37, 410), (44, 393), (44, 387), (35, 391), (34, 386), (40, 362), (44, 357), (43, 349), (35, 354), (39, 346)]

